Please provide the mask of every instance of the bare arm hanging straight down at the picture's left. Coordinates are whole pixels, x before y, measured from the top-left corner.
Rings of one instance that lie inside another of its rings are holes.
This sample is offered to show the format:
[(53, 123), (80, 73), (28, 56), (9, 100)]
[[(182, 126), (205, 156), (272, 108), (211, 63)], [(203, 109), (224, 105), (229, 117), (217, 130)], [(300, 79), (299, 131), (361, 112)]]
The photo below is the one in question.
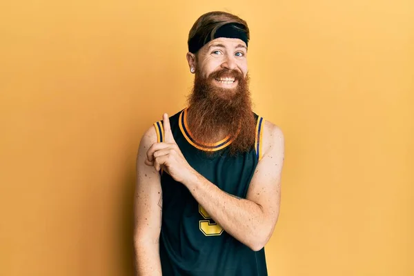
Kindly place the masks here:
[(159, 233), (161, 230), (162, 190), (159, 172), (146, 166), (146, 152), (157, 142), (152, 126), (141, 138), (137, 155), (135, 187), (134, 246), (137, 275), (161, 275)]

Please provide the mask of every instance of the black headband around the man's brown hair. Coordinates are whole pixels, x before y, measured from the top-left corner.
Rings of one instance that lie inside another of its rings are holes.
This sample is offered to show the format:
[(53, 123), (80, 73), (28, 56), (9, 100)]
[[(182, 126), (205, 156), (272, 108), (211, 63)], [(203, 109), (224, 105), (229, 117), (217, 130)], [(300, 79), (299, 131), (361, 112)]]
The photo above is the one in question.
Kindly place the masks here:
[(190, 41), (188, 41), (188, 51), (195, 54), (208, 42), (219, 37), (226, 37), (228, 39), (242, 39), (242, 41), (246, 43), (246, 47), (248, 44), (247, 33), (246, 30), (244, 30), (244, 26), (239, 23), (227, 23), (217, 29), (213, 38), (211, 37), (211, 32), (208, 34), (206, 39), (203, 39), (203, 37), (199, 35), (195, 35), (192, 39), (190, 39)]

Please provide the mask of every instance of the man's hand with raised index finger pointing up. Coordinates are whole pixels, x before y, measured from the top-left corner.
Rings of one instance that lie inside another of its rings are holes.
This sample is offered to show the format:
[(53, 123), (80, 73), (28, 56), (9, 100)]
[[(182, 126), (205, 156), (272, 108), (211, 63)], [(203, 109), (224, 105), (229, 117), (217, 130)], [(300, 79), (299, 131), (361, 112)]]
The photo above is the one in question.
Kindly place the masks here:
[(155, 170), (159, 171), (161, 168), (171, 175), (171, 177), (178, 182), (183, 183), (193, 168), (188, 164), (184, 155), (179, 150), (174, 137), (172, 136), (170, 119), (165, 113), (163, 117), (164, 125), (164, 142), (155, 143), (150, 146), (147, 151), (147, 159), (145, 164), (154, 166)]

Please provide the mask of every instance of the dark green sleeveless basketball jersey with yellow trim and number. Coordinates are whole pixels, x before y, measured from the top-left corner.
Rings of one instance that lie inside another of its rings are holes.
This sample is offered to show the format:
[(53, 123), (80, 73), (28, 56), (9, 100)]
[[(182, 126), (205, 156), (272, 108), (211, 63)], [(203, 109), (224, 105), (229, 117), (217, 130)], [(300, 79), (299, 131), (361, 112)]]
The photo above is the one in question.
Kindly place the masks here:
[[(224, 192), (246, 198), (250, 180), (262, 158), (264, 119), (255, 113), (255, 148), (228, 155), (231, 140), (208, 146), (197, 142), (187, 124), (187, 108), (170, 117), (172, 135), (188, 164)], [(164, 141), (162, 121), (154, 124)], [(213, 155), (206, 155), (210, 151)], [(167, 276), (267, 275), (264, 248), (257, 252), (224, 231), (198, 204), (190, 191), (161, 171), (162, 224), (159, 255)]]

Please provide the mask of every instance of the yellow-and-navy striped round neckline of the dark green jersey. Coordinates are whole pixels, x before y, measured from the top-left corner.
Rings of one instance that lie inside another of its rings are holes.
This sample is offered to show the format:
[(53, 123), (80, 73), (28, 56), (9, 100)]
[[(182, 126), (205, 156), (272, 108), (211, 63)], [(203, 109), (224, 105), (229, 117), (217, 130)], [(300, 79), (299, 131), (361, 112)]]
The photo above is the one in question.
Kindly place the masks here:
[(187, 114), (188, 114), (188, 108), (184, 108), (184, 110), (181, 111), (179, 114), (178, 124), (179, 129), (181, 130), (181, 133), (183, 134), (184, 138), (190, 143), (192, 146), (199, 150), (205, 150), (205, 151), (217, 151), (221, 150), (223, 148), (226, 148), (228, 145), (230, 145), (233, 142), (233, 139), (230, 139), (230, 135), (228, 135), (226, 138), (222, 139), (221, 141), (218, 141), (213, 144), (203, 144), (196, 139), (194, 139), (192, 133), (190, 132), (190, 129), (188, 128), (187, 124)]

